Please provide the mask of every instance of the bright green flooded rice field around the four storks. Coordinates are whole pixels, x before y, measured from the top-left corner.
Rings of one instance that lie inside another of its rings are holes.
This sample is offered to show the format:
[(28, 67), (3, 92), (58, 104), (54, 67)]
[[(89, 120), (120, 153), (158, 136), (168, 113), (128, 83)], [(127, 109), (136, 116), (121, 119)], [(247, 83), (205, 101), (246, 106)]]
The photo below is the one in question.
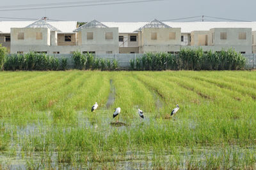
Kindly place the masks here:
[(256, 72), (0, 72), (0, 169), (256, 169)]

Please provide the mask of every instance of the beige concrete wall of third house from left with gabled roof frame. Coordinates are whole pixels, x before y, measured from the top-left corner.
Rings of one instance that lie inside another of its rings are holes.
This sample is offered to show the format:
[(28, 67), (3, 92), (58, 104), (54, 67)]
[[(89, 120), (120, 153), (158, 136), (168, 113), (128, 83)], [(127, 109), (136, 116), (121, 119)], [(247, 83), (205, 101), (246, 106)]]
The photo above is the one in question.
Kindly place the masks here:
[[(175, 32), (175, 39), (169, 38), (170, 32)], [(156, 39), (152, 39), (154, 33)], [(180, 28), (145, 28), (138, 36), (140, 53), (180, 51)]]

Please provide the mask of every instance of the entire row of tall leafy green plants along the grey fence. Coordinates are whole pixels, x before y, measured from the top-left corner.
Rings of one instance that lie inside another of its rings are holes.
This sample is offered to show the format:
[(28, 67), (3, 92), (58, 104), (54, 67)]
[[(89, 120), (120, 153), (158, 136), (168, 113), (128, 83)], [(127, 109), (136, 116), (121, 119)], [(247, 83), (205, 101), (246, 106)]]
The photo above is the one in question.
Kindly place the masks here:
[[(71, 67), (68, 67), (67, 57), (53, 57), (44, 53), (29, 52), (24, 55), (4, 55), (4, 48), (0, 47), (0, 69), (15, 70), (101, 70), (113, 71), (124, 69), (118, 67), (118, 61), (113, 59), (98, 59), (92, 53), (74, 52)], [(4, 57), (5, 56), (5, 57)], [(179, 54), (145, 53), (143, 57), (130, 60), (130, 69), (138, 71), (162, 70), (241, 70), (244, 69), (246, 59), (241, 53), (229, 49), (221, 52), (203, 52), (202, 48), (183, 48)]]

